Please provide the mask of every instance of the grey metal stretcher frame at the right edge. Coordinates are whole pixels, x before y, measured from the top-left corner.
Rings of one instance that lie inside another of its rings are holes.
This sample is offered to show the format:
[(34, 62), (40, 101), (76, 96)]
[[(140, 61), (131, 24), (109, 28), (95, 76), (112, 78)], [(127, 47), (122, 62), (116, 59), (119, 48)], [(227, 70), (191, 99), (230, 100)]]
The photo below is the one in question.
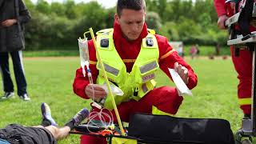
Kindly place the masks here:
[[(242, 8), (244, 8), (245, 3), (242, 5)], [(255, 4), (255, 3), (254, 3)], [(242, 10), (241, 10), (242, 11)], [(241, 16), (241, 11), (239, 11), (237, 14), (234, 14), (232, 17), (228, 18), (225, 22), (225, 26), (228, 26), (229, 32), (232, 33), (232, 26), (234, 30), (234, 24), (236, 24), (239, 20), (239, 17)], [(254, 6), (253, 9), (253, 17), (254, 12), (256, 11), (256, 8)], [(231, 34), (230, 34), (231, 35)], [(243, 37), (242, 35), (236, 35), (236, 38), (230, 37), (230, 40), (227, 41), (228, 46), (234, 46), (235, 49), (238, 48), (244, 48), (247, 47), (247, 50), (251, 50), (253, 54), (252, 59), (252, 85), (251, 85), (251, 116), (250, 118), (243, 118), (242, 119), (242, 127), (237, 132), (237, 140), (238, 142), (242, 142), (242, 138), (249, 137), (250, 142), (252, 142), (251, 137), (256, 136), (256, 90), (255, 90), (255, 50), (256, 50), (256, 33), (252, 32), (249, 35), (246, 35)], [(250, 48), (248, 47), (250, 45)], [(250, 143), (249, 142), (249, 143)], [(243, 142), (242, 142), (243, 143)]]

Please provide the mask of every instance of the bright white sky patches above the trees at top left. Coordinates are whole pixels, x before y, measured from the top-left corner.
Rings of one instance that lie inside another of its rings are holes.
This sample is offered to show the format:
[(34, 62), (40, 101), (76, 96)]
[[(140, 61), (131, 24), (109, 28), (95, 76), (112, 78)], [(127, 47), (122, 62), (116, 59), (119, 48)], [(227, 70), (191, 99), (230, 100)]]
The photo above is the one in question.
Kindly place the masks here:
[[(32, 2), (38, 2), (38, 0), (31, 0)], [(46, 2), (63, 2), (63, 0), (45, 0)], [(110, 8), (116, 5), (117, 0), (74, 0), (75, 2), (90, 2), (90, 1), (97, 1), (98, 3), (102, 4), (102, 6), (106, 8)]]

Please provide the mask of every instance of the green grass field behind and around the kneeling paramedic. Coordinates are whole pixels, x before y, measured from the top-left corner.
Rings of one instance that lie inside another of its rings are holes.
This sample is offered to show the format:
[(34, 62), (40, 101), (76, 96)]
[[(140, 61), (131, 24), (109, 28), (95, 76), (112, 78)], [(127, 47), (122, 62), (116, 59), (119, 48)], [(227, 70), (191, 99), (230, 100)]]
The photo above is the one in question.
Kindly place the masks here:
[[(75, 70), (80, 62), (78, 57), (24, 58), (23, 60), (28, 92), (32, 101), (22, 102), (17, 95), (10, 100), (1, 101), (0, 127), (14, 122), (26, 126), (38, 125), (41, 122), (41, 102), (50, 105), (52, 115), (59, 126), (78, 110), (88, 106), (88, 102), (73, 94), (72, 90)], [(194, 60), (186, 58), (186, 61), (198, 74), (198, 86), (193, 90), (193, 97), (184, 98), (176, 116), (225, 118), (230, 122), (235, 133), (241, 123), (242, 111), (238, 108), (236, 90), (238, 80), (230, 58), (210, 60), (200, 57)], [(12, 67), (10, 69), (14, 80)], [(159, 74), (158, 86), (173, 86), (173, 83), (167, 79), (163, 74)], [(2, 87), (0, 90), (2, 91)], [(59, 143), (79, 143), (79, 136), (72, 134)]]

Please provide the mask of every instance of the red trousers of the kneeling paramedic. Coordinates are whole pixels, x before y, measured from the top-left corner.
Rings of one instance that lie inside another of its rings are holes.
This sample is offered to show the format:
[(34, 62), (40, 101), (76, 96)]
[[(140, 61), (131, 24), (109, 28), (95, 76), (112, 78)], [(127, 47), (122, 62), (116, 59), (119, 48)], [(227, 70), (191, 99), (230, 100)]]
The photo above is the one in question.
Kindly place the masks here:
[[(178, 92), (174, 87), (162, 86), (151, 90), (138, 102), (131, 100), (130, 102), (122, 102), (118, 106), (118, 112), (122, 122), (129, 122), (130, 115), (134, 113), (152, 114), (152, 106), (169, 114), (176, 114), (178, 107), (182, 104), (183, 98), (178, 96)], [(117, 122), (114, 110), (114, 122)], [(106, 143), (106, 138), (93, 137), (88, 135), (81, 136), (81, 144), (98, 144)]]

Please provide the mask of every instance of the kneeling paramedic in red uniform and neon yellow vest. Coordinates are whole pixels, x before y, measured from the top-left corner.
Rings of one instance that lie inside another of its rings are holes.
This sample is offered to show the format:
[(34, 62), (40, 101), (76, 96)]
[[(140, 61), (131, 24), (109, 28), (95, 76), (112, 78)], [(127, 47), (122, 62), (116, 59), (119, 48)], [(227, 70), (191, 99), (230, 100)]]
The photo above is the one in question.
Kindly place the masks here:
[[(174, 68), (189, 89), (197, 85), (196, 74), (169, 45), (167, 38), (147, 30), (145, 16), (144, 0), (118, 0), (114, 29), (97, 33), (97, 46), (107, 77), (124, 92), (122, 96), (114, 96), (123, 122), (129, 122), (130, 115), (137, 112), (177, 113), (183, 98), (175, 87), (155, 88), (154, 78), (159, 68), (169, 78), (168, 68)], [(103, 84), (105, 81), (92, 40), (88, 42), (88, 48), (94, 83)], [(82, 68), (76, 71), (73, 90), (81, 98), (106, 98), (104, 107), (112, 110), (114, 122), (117, 122), (110, 97), (106, 97), (106, 91), (101, 87), (90, 84), (88, 77), (83, 76)], [(82, 135), (81, 143), (106, 143), (106, 138)]]

